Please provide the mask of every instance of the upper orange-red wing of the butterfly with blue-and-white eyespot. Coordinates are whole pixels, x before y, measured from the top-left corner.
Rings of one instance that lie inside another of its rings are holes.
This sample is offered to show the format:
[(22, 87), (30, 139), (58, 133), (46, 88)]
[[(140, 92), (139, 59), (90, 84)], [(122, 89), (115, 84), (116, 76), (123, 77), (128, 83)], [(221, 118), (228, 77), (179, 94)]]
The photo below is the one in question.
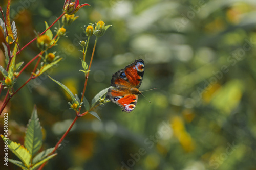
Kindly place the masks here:
[(124, 69), (120, 69), (113, 74), (111, 86), (114, 87), (140, 87), (144, 75), (144, 61), (142, 59), (135, 60), (132, 64), (127, 65)]

